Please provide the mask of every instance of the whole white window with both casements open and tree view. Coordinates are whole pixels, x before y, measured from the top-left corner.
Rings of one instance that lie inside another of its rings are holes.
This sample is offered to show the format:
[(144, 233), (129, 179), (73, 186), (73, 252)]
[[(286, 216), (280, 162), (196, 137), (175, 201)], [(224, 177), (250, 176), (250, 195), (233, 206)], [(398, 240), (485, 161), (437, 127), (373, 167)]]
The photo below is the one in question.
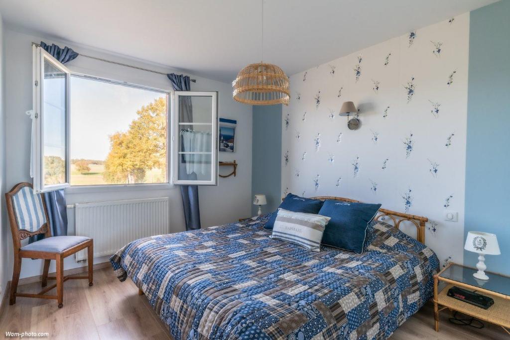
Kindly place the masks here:
[(36, 192), (216, 185), (217, 92), (170, 93), (73, 74), (34, 47), (33, 117)]

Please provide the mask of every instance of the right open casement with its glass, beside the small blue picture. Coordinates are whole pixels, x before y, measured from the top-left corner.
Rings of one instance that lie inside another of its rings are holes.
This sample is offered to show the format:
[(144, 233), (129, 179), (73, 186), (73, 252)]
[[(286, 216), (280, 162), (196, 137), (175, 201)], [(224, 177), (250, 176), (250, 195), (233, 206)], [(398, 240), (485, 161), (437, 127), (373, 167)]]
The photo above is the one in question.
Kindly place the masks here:
[(173, 183), (215, 186), (218, 92), (173, 94)]

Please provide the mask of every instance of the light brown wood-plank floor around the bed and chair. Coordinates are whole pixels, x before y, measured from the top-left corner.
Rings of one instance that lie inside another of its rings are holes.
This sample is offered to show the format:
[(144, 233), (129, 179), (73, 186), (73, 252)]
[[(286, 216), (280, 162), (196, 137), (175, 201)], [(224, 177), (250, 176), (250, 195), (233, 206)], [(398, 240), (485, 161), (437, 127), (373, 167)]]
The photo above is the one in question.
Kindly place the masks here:
[[(18, 288), (40, 290), (39, 283)], [(413, 339), (510, 339), (500, 327), (486, 323), (483, 329), (448, 323), (449, 312), (441, 313), (440, 331), (433, 329), (432, 305), (428, 303), (391, 337)], [(17, 298), (0, 316), (0, 337), (6, 331), (48, 332), (51, 339), (168, 339), (169, 332), (135, 284), (120, 282), (109, 268), (94, 271), (94, 286), (87, 280), (64, 283), (64, 308), (55, 300)]]

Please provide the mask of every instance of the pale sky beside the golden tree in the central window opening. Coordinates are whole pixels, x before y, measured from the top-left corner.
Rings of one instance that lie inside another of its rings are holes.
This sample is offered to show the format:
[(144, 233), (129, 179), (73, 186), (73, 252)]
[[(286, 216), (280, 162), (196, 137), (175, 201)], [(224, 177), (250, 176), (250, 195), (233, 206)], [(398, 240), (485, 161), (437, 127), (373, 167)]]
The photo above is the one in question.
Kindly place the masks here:
[(136, 111), (165, 94), (71, 76), (71, 159), (104, 161), (109, 136), (125, 132)]

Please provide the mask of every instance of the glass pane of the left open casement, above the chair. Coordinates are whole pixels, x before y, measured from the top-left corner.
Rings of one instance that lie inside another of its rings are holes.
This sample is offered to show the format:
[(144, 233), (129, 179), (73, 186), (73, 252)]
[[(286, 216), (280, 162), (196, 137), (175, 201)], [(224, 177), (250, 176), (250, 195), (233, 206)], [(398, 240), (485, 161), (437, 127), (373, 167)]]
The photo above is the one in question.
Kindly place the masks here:
[(62, 184), (65, 176), (66, 74), (44, 59), (44, 185)]

